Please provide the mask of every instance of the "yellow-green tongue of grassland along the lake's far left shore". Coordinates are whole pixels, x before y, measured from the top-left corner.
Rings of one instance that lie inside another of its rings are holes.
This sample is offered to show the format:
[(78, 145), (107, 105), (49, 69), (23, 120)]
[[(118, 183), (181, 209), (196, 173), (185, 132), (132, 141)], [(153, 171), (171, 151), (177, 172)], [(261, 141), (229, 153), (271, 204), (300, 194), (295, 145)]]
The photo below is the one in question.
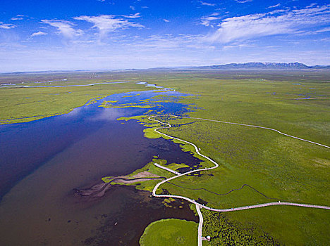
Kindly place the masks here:
[[(68, 78), (70, 78), (69, 76), (67, 75)], [(32, 80), (32, 77), (28, 78)], [(20, 79), (23, 81), (24, 77)], [(37, 77), (35, 77), (35, 81), (37, 81)], [(6, 78), (0, 77), (0, 82), (6, 82)], [(104, 82), (104, 80), (95, 81), (85, 75), (79, 81), (68, 79), (68, 81), (56, 84), (91, 84), (94, 82)], [(71, 112), (73, 108), (78, 108), (87, 102), (93, 103), (114, 93), (143, 90), (147, 90), (147, 88), (134, 83), (57, 88), (0, 88), (0, 124), (28, 122), (51, 115), (61, 115)]]

